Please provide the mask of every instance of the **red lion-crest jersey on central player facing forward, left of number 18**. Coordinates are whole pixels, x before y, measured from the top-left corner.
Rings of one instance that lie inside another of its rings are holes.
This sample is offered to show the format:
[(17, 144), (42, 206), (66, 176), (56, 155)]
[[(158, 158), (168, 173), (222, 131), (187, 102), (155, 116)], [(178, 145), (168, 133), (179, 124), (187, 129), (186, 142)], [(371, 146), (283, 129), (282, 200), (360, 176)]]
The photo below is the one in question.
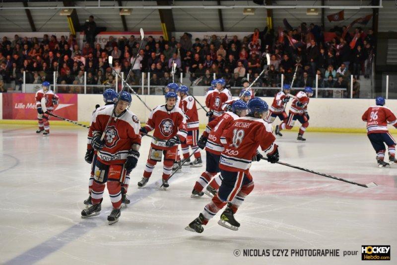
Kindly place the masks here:
[(151, 146), (160, 150), (167, 150), (165, 142), (175, 135), (184, 141), (188, 135), (185, 113), (178, 107), (168, 111), (165, 105), (156, 107), (149, 115), (145, 126), (147, 132), (154, 130), (153, 136), (164, 141), (152, 139)]

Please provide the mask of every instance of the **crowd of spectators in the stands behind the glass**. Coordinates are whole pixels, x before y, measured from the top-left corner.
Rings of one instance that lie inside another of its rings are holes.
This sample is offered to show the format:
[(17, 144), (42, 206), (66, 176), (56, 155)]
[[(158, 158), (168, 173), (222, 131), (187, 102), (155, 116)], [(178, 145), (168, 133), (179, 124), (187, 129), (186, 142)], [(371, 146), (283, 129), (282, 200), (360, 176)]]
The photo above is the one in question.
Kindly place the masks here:
[[(345, 96), (349, 95), (350, 76), (353, 75), (353, 97), (359, 97), (357, 80), (370, 76), (376, 39), (372, 30), (364, 32), (360, 27), (351, 33), (349, 30), (350, 26), (336, 29), (331, 41), (325, 41), (320, 26), (306, 23), (296, 28), (288, 24), (278, 32), (267, 27), (263, 31), (256, 28), (241, 40), (237, 36), (228, 39), (216, 35), (193, 40), (189, 33), (183, 34), (179, 41), (175, 37), (166, 41), (162, 36), (158, 40), (148, 36), (139, 51), (140, 40), (133, 35), (128, 39), (110, 36), (104, 47), (93, 40), (80, 47), (74, 35), (59, 38), (45, 34), (40, 39), (29, 39), (16, 34), (13, 40), (3, 37), (0, 43), (0, 91), (5, 92), (5, 84), (9, 83), (20, 87), (24, 71), (26, 83), (38, 84), (54, 83), (53, 72), (57, 71), (59, 93), (81, 93), (84, 72), (90, 87), (88, 92), (102, 93), (103, 85), (115, 86), (116, 71), (124, 72), (126, 77), (131, 67), (131, 85), (146, 82), (146, 74), (150, 72), (151, 86), (165, 86), (172, 82), (171, 68), (175, 62), (176, 79), (183, 73), (192, 84), (209, 87), (215, 74), (215, 78), (226, 80), (234, 94), (238, 90), (233, 87), (241, 87), (248, 75), (252, 81), (263, 69), (265, 73), (255, 87), (275, 88), (280, 87), (281, 82), (290, 84), (297, 69), (293, 87), (315, 87), (317, 75), (319, 88), (347, 88)], [(267, 53), (270, 54), (269, 67)], [(114, 58), (113, 69), (109, 66), (109, 56)], [(258, 89), (256, 95), (273, 96), (275, 92), (274, 89)], [(332, 91), (322, 91), (322, 96), (330, 97)]]

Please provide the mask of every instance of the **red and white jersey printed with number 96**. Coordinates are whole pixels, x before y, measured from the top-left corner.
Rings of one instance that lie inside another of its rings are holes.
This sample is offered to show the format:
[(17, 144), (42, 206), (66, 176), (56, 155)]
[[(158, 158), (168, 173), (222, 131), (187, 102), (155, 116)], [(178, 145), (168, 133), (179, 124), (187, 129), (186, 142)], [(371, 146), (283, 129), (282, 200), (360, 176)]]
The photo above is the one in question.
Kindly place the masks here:
[(397, 128), (397, 119), (393, 112), (384, 106), (372, 106), (366, 110), (362, 120), (367, 122), (367, 134), (388, 133), (388, 123)]

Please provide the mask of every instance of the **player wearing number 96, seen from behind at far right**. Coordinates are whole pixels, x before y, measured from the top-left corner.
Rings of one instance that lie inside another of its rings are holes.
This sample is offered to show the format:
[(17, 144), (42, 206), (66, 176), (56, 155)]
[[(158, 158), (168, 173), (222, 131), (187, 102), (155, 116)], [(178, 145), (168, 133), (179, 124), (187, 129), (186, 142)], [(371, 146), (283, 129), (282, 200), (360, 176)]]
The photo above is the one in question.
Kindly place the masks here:
[(389, 150), (389, 162), (397, 163), (396, 160), (396, 141), (389, 133), (388, 123), (397, 128), (397, 119), (393, 112), (385, 107), (385, 98), (377, 97), (376, 106), (369, 107), (362, 116), (362, 120), (367, 122), (367, 136), (377, 154), (376, 160), (379, 167), (390, 167), (384, 161), (385, 143)]

